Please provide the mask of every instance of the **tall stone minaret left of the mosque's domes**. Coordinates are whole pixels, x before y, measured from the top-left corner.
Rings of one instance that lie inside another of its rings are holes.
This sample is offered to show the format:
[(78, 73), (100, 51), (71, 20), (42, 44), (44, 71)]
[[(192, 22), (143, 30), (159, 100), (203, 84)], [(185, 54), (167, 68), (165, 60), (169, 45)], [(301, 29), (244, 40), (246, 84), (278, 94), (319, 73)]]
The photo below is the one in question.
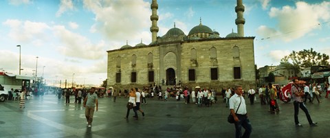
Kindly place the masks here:
[(159, 28), (157, 27), (157, 21), (158, 21), (157, 9), (158, 9), (157, 0), (153, 0), (153, 2), (151, 3), (151, 10), (153, 10), (153, 13), (150, 16), (150, 20), (152, 21), (150, 27), (152, 42), (157, 41), (157, 32), (159, 30)]

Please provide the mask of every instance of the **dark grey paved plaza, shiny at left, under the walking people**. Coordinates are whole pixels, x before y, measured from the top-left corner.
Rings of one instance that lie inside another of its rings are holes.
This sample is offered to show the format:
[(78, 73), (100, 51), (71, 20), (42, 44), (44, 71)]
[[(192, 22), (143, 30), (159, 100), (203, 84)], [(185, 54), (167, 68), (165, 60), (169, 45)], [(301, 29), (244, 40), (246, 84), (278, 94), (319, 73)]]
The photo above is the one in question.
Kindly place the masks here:
[[(219, 98), (220, 99), (220, 98)], [(258, 101), (247, 103), (252, 138), (292, 138), (292, 137), (330, 137), (330, 99), (322, 97), (321, 104), (307, 102), (307, 108), (318, 126), (310, 127), (305, 113), (300, 110), (299, 120), (303, 127), (294, 124), (294, 106), (292, 103), (278, 102), (280, 113), (268, 113), (268, 106)], [(99, 98), (99, 111), (94, 113), (91, 128), (87, 128), (85, 108), (70, 104), (65, 99), (58, 100), (56, 95), (34, 97), (26, 101), (26, 108), (19, 108), (18, 101), (0, 103), (0, 137), (234, 137), (234, 125), (226, 121), (229, 110), (222, 99), (211, 107), (197, 104), (184, 104), (170, 99), (168, 102), (157, 98), (148, 99), (142, 104), (146, 113), (139, 113), (139, 119), (129, 119), (126, 115), (128, 99), (121, 97), (113, 102), (112, 98)]]

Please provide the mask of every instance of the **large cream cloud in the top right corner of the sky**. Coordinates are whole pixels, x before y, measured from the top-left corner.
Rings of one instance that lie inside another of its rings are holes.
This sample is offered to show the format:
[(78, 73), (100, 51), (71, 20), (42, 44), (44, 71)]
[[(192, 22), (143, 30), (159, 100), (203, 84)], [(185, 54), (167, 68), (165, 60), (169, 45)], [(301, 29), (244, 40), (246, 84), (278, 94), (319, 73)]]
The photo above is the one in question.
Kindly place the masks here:
[[(283, 8), (271, 8), (269, 15), (278, 22), (276, 34), (281, 34), (281, 38), (285, 41), (292, 41), (320, 27), (318, 23), (330, 19), (330, 2), (309, 4), (298, 1), (296, 7), (285, 5)], [(274, 30), (271, 27), (263, 27), (263, 29)]]

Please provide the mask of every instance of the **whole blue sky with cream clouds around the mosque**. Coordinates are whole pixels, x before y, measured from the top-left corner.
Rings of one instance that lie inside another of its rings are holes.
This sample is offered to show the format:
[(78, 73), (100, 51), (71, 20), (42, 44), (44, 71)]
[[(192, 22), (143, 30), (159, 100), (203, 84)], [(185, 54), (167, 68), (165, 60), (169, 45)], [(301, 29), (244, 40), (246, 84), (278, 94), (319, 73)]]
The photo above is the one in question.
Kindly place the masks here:
[[(107, 78), (107, 50), (151, 43), (151, 0), (0, 1), (0, 68), (77, 84)], [(258, 67), (278, 65), (293, 50), (313, 47), (330, 55), (330, 1), (243, 0), (245, 36), (255, 36)], [(236, 31), (234, 0), (158, 1), (158, 36), (173, 27), (188, 34), (203, 25), (221, 37)], [(45, 67), (44, 67), (45, 66)]]

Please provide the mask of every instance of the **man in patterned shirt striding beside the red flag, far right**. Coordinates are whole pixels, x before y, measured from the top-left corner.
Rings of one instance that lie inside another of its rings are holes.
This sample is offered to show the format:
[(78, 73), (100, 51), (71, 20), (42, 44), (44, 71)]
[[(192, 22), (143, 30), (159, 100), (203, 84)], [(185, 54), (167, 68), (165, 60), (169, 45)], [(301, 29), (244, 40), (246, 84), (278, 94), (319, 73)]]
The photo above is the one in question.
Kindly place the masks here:
[(298, 80), (293, 80), (294, 84), (292, 85), (291, 92), (292, 97), (294, 100), (294, 122), (296, 123), (297, 127), (302, 127), (302, 124), (299, 124), (298, 121), (298, 113), (299, 113), (299, 107), (305, 112), (307, 120), (309, 122), (309, 126), (316, 126), (318, 123), (314, 123), (311, 121), (311, 116), (309, 115), (309, 112), (303, 102), (302, 96), (304, 95), (304, 92), (301, 90), (301, 88), (298, 86)]

